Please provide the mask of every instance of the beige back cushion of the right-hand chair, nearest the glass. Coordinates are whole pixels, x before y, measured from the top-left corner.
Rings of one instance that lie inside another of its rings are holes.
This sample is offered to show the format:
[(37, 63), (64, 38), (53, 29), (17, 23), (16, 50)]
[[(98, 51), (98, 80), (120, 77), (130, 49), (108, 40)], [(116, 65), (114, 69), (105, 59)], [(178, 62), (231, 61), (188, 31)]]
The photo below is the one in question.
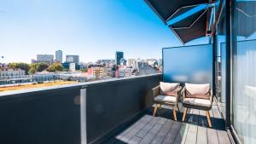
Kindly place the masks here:
[(210, 84), (185, 84), (187, 98), (210, 99)]

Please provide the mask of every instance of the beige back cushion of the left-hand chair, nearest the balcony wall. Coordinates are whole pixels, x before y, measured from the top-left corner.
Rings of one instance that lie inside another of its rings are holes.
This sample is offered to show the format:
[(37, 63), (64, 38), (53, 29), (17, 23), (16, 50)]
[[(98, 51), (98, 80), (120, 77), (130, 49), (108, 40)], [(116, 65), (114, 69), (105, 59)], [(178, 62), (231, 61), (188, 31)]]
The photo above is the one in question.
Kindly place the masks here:
[(176, 95), (179, 83), (160, 82), (160, 95)]

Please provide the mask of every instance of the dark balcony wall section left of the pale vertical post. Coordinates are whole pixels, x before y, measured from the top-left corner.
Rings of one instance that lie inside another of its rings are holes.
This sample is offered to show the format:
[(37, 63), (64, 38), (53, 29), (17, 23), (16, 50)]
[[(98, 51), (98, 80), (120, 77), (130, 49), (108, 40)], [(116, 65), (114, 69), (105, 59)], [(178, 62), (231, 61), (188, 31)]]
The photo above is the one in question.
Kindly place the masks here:
[(79, 87), (0, 98), (0, 143), (80, 143)]

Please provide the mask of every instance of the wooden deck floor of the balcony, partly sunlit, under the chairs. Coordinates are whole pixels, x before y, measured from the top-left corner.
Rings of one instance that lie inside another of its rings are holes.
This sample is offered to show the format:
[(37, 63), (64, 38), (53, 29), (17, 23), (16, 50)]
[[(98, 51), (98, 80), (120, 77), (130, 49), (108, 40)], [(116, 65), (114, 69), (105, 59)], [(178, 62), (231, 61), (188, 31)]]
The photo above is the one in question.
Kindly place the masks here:
[(177, 122), (173, 121), (170, 109), (164, 113), (159, 110), (156, 117), (148, 112), (136, 123), (104, 143), (230, 144), (230, 138), (224, 130), (224, 119), (221, 118), (216, 103), (213, 104), (210, 114), (212, 128), (207, 127), (205, 111), (189, 109), (184, 123), (181, 123), (183, 107), (181, 112), (177, 112)]

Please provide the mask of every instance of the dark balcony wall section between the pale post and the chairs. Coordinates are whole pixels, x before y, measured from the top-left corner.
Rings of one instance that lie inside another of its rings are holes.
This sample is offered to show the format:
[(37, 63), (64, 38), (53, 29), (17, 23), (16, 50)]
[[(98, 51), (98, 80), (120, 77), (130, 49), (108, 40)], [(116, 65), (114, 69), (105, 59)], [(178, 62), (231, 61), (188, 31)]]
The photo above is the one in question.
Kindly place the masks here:
[(150, 105), (150, 89), (161, 75), (127, 78), (87, 87), (87, 138), (96, 140)]

